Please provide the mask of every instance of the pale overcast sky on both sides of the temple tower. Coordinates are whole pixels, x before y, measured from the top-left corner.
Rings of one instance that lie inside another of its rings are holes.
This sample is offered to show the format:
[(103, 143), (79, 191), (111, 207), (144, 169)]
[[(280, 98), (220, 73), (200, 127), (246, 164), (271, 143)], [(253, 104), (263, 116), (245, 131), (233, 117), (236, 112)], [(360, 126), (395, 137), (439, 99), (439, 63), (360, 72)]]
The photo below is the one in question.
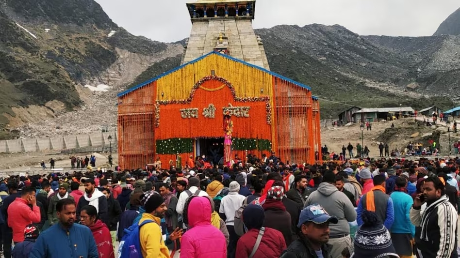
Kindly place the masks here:
[[(173, 42), (190, 34), (187, 0), (96, 1), (134, 35)], [(459, 7), (459, 0), (257, 0), (253, 24), (340, 24), (361, 35), (428, 36)]]

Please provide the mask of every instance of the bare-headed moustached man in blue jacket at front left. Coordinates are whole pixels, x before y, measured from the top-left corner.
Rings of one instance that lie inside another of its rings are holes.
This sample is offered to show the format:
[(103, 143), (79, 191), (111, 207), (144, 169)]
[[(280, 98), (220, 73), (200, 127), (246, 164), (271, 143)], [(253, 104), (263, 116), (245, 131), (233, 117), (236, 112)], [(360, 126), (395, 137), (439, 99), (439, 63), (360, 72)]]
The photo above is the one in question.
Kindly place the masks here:
[(68, 198), (58, 201), (56, 213), (59, 223), (40, 234), (29, 258), (99, 258), (91, 230), (75, 224), (75, 201)]

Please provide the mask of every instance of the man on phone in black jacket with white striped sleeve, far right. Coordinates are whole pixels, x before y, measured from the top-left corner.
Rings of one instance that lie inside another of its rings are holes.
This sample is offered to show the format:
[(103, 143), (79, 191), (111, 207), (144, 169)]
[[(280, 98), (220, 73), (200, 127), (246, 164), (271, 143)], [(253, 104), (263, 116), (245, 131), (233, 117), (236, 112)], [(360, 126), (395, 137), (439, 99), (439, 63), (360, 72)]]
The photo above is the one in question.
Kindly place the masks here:
[(428, 177), (422, 189), (410, 211), (412, 224), (422, 228), (415, 230), (417, 257), (457, 258), (458, 215), (444, 194), (443, 182), (437, 177)]

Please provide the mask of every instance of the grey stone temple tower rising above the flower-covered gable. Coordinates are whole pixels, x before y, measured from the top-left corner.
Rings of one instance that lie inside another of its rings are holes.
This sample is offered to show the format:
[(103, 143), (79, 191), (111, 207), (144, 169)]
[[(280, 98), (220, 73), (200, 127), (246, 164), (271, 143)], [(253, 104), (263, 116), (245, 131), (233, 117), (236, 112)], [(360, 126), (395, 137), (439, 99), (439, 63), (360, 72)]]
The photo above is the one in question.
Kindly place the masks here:
[(182, 63), (216, 50), (270, 70), (252, 28), (256, 1), (198, 0), (187, 7), (193, 26)]

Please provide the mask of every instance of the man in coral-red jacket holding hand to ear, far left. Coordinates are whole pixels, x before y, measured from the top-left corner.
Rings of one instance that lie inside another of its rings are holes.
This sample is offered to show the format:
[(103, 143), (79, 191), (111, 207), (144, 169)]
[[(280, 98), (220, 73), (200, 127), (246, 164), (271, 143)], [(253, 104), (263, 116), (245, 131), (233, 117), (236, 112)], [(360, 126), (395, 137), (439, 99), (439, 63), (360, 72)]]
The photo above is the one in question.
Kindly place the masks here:
[(13, 242), (16, 244), (24, 241), (24, 228), (29, 224), (39, 223), (40, 220), (35, 188), (26, 187), (22, 190), (21, 197), (16, 198), (8, 207), (8, 226), (13, 229)]

